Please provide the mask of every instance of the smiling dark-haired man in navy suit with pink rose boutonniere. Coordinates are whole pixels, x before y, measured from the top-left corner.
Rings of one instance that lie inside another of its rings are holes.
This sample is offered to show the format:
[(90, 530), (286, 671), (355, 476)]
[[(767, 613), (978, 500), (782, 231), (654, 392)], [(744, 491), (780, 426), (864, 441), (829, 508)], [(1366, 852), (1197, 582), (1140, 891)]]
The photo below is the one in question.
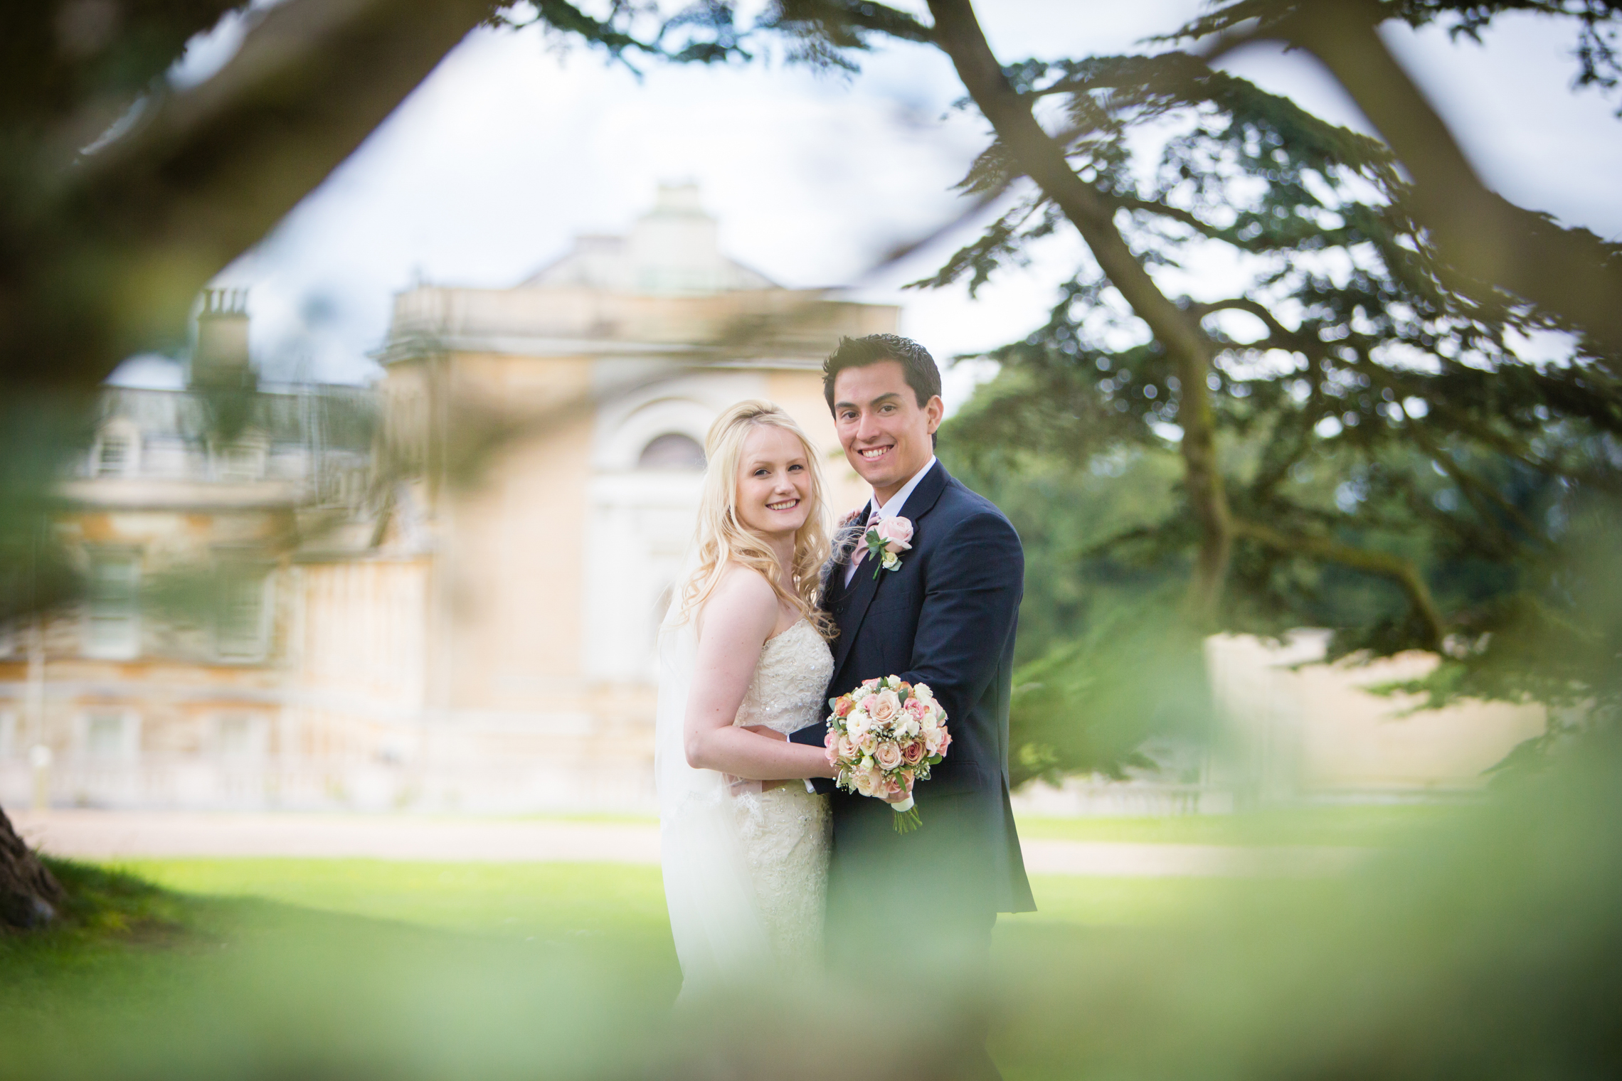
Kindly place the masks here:
[[(835, 959), (842, 945), (871, 958), (887, 925), (936, 943), (907, 953), (972, 974), (985, 963), (998, 912), (1036, 908), (1007, 765), (1025, 556), (1002, 512), (934, 457), (944, 407), (928, 350), (895, 334), (842, 339), (822, 366), (822, 391), (845, 457), (873, 486), (827, 567), (822, 603), (839, 626), (827, 697), (876, 676), (925, 682), (952, 734), (946, 760), (915, 788), (923, 825), (913, 833), (895, 831), (895, 812), (882, 801), (832, 793), (829, 948)], [(913, 528), (894, 570), (852, 549), (858, 530), (892, 517)], [(813, 724), (795, 739), (821, 744), (822, 734)]]

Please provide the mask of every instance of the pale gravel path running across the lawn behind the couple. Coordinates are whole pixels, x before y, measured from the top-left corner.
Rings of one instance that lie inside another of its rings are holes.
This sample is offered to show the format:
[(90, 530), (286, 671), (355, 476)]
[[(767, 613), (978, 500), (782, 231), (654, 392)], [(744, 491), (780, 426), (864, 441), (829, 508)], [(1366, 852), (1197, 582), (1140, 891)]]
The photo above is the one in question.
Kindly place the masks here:
[[(18, 831), (52, 856), (81, 859), (285, 856), (469, 862), (657, 864), (659, 827), (566, 818), (191, 814), (157, 810), (15, 812)], [(1327, 875), (1353, 848), (1226, 848), (1023, 841), (1025, 867), (1046, 875)]]

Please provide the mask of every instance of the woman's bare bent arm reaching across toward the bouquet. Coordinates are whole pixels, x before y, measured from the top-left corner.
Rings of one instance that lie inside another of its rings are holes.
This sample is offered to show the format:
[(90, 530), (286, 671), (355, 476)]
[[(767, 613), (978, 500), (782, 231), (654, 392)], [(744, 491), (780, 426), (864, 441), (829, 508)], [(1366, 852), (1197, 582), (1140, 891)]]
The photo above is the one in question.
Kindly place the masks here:
[(704, 605), (693, 692), (683, 724), (688, 765), (751, 781), (834, 776), (821, 747), (735, 728), (761, 647), (777, 626), (777, 593), (761, 575), (733, 567)]

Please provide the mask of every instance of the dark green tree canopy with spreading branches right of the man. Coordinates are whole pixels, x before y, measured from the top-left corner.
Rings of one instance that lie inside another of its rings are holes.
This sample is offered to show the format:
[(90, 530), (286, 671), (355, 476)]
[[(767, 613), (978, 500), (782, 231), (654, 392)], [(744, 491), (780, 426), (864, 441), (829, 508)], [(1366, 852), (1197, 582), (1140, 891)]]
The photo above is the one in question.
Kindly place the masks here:
[[(1440, 16), (1410, 6), (1382, 15)], [(1264, 34), (1296, 18), (1289, 5), (1239, 3), (1186, 36)], [(1479, 31), (1491, 13), (1458, 18)], [(1585, 23), (1585, 41), (1601, 41), (1599, 26)], [(959, 37), (972, 84), (983, 37), (965, 26)], [(1434, 220), (1398, 147), (1204, 57), (1028, 60), (999, 75), (975, 96), (996, 141), (962, 186), (1036, 183), (920, 285), (975, 288), (1066, 219), (1092, 258), (1043, 327), (989, 353), (1001, 374), (947, 439), (970, 455), (1017, 447), (1077, 467), (1179, 451), (1181, 498), (1077, 558), (1095, 580), (1181, 566), (1194, 626), (1330, 626), (1337, 656), (1437, 652), (1435, 700), (1614, 700), (1619, 637), (1599, 598), (1616, 588), (1601, 553), (1622, 522), (1622, 350), (1604, 313), (1518, 292)], [(1539, 220), (1598, 256), (1577, 264), (1590, 279), (1619, 266), (1616, 245)], [(1142, 595), (1139, 622), (1155, 598)], [(1129, 639), (1071, 650), (1062, 708), (1059, 673), (1033, 669), (1043, 694), (1025, 726), (1062, 744), (1036, 718), (1085, 716), (1101, 681), (1134, 664), (1116, 648)], [(1071, 742), (1079, 754), (1058, 762), (1098, 765), (1087, 741)]]

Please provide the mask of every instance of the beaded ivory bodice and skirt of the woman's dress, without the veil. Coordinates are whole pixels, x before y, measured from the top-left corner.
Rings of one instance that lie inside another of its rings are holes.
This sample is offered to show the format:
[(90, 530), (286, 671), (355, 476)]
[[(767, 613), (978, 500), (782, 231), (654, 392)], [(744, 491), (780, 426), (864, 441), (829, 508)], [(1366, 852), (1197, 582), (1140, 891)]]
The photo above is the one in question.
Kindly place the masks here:
[[(834, 655), (808, 621), (761, 647), (733, 724), (795, 733), (822, 720)], [(832, 820), (827, 796), (800, 781), (735, 796), (744, 862), (772, 948), (785, 964), (814, 963), (822, 946)]]

